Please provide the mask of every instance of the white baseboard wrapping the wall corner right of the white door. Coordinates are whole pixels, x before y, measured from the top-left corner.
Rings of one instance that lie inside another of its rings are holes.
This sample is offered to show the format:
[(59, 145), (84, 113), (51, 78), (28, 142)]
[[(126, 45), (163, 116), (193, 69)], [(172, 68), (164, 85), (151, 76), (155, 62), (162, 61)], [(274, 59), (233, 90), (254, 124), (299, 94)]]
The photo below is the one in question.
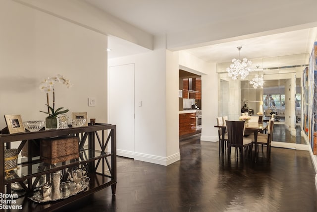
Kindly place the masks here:
[[(108, 148), (108, 151), (111, 152), (111, 148)], [(125, 151), (121, 149), (117, 149), (117, 156), (128, 157), (134, 160), (140, 160), (149, 163), (155, 163), (163, 166), (168, 166), (176, 161), (180, 160), (180, 153), (177, 152), (168, 157), (160, 157), (151, 154), (143, 154), (138, 152)]]

